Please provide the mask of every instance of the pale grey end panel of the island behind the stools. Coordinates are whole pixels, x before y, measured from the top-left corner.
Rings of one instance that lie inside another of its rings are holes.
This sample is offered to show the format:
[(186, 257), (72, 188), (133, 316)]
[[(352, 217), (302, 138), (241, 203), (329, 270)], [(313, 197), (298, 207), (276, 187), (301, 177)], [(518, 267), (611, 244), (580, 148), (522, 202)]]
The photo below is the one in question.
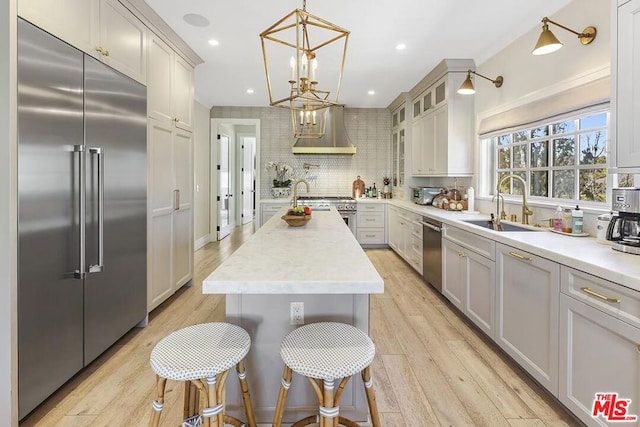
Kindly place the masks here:
[[(282, 379), (282, 339), (299, 325), (290, 324), (290, 303), (304, 303), (305, 324), (346, 323), (369, 334), (369, 295), (226, 295), (226, 321), (242, 327), (251, 337), (245, 358), (253, 410), (258, 424), (271, 425)], [(375, 378), (374, 378), (375, 381)], [(318, 398), (308, 380), (293, 375), (295, 391), (287, 398), (283, 424), (318, 413)], [(236, 382), (227, 384), (227, 412), (243, 414), (242, 394)], [(367, 425), (368, 405), (360, 375), (347, 384), (340, 399), (340, 415)]]

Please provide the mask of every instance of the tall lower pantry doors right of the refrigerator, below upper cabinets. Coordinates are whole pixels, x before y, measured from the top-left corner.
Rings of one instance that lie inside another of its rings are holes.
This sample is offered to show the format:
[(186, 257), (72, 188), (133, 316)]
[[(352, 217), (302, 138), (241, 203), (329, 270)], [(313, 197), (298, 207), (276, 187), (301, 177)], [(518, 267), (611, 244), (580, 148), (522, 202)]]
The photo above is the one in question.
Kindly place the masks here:
[(148, 310), (193, 277), (193, 135), (148, 119)]

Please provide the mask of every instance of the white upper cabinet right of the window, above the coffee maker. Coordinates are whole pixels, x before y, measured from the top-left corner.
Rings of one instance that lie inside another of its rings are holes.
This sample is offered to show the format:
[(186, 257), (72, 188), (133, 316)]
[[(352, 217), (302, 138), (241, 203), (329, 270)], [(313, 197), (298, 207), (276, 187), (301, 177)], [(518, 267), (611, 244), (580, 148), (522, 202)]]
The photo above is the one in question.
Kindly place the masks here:
[(640, 168), (640, 0), (617, 4), (612, 14), (617, 39), (612, 43), (611, 61), (615, 88), (612, 163), (619, 168)]

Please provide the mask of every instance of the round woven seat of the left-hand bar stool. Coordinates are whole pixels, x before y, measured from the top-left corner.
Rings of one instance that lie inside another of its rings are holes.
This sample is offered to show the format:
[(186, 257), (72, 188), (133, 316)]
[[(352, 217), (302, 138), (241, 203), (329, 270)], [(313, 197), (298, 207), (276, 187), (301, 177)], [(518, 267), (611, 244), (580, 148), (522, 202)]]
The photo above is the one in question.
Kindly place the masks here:
[(251, 338), (229, 323), (188, 326), (164, 337), (151, 352), (151, 369), (178, 381), (213, 377), (244, 359)]

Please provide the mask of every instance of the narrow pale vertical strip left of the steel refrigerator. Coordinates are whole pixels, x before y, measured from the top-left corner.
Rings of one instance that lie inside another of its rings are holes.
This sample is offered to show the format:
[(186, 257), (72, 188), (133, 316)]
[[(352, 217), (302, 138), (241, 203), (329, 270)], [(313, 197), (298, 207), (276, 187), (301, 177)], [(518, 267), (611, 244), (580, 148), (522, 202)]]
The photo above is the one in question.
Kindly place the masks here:
[(0, 0), (0, 424), (18, 425), (16, 2)]

